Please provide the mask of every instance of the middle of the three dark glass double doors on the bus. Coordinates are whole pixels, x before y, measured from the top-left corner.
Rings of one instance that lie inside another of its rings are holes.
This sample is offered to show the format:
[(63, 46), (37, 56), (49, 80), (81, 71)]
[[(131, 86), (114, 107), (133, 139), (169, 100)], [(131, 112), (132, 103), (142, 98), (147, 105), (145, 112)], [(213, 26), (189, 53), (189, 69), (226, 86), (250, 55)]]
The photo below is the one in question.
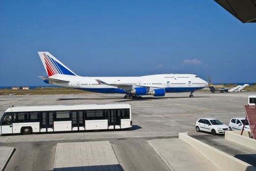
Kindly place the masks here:
[(85, 130), (83, 111), (72, 111), (72, 130)]

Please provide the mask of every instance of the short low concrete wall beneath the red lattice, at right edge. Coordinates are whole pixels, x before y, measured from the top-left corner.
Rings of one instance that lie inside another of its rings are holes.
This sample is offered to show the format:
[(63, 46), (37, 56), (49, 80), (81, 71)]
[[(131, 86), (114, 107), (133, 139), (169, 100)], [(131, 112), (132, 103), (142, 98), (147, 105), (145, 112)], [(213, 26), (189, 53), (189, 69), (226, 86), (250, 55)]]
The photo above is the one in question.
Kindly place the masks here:
[(249, 138), (246, 136), (242, 136), (242, 135), (238, 134), (237, 132), (241, 133), (241, 131), (226, 131), (225, 139), (233, 141), (234, 143), (246, 146), (253, 150), (256, 150), (256, 140), (255, 139)]

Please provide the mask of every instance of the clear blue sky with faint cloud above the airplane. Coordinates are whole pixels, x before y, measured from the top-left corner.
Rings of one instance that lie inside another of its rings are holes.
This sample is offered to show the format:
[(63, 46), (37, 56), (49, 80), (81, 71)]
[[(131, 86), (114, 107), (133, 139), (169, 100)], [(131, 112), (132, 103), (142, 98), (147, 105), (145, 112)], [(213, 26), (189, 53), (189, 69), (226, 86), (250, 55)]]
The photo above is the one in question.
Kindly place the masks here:
[(37, 51), (81, 76), (256, 82), (256, 24), (213, 0), (0, 0), (0, 86), (46, 85)]

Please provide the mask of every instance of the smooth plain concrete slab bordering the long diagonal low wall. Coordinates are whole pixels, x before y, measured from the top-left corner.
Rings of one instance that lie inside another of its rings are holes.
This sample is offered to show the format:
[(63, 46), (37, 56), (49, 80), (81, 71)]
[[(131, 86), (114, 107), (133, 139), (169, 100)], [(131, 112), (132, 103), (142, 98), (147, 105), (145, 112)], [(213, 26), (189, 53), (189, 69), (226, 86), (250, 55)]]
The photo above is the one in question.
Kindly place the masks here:
[(219, 171), (209, 160), (183, 140), (154, 139), (148, 143), (171, 171)]

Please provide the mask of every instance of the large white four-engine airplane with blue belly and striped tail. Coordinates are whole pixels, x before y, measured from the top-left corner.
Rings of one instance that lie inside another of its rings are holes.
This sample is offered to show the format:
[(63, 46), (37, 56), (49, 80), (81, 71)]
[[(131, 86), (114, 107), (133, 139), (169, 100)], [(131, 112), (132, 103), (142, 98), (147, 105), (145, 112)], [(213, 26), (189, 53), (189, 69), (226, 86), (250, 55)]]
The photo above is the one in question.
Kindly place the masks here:
[(38, 52), (48, 77), (40, 76), (47, 84), (71, 87), (97, 93), (121, 93), (124, 98), (142, 95), (164, 96), (171, 92), (190, 92), (208, 86), (193, 74), (158, 74), (140, 77), (82, 77), (76, 75), (49, 52)]

